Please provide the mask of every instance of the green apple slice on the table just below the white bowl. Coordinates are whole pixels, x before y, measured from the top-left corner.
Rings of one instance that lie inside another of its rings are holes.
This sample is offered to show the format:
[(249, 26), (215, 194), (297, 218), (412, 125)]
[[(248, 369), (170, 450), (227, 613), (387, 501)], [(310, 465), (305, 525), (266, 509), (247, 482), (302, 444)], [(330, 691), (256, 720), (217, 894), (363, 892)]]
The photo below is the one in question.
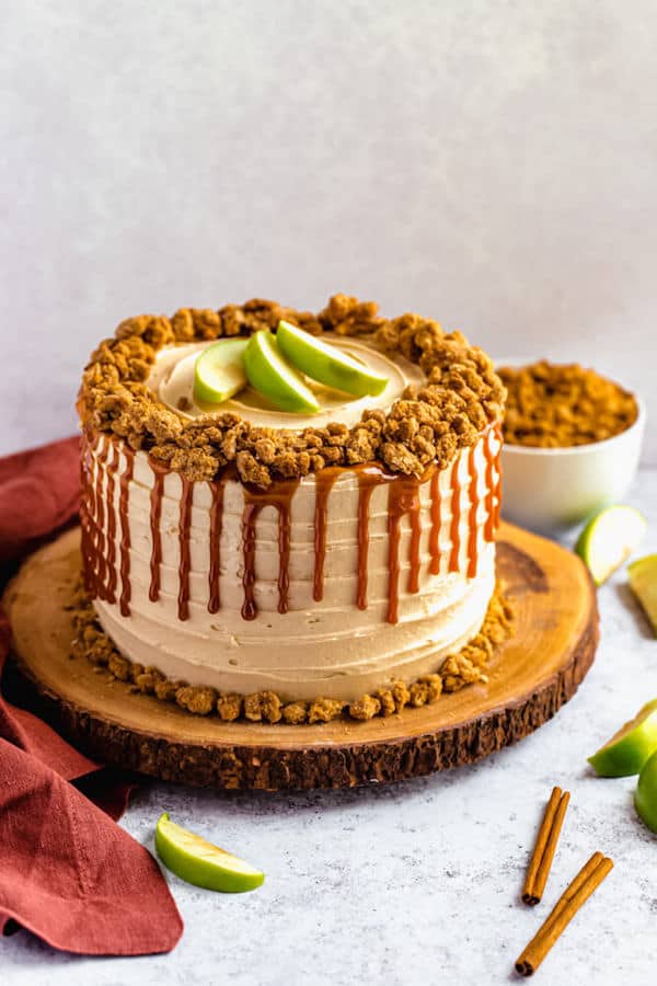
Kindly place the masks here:
[(611, 506), (588, 521), (575, 551), (601, 585), (626, 561), (647, 529), (643, 514), (629, 506)]

